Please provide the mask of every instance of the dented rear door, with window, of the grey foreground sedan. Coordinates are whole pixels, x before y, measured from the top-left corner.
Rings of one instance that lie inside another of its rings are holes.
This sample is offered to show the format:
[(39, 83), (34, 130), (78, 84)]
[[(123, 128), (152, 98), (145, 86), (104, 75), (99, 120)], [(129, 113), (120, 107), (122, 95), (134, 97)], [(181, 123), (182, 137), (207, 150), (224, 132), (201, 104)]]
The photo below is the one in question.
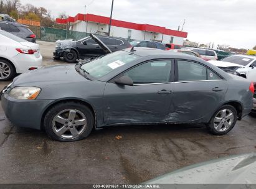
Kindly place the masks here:
[(224, 101), (227, 81), (199, 62), (176, 60), (174, 110), (179, 121), (211, 118)]

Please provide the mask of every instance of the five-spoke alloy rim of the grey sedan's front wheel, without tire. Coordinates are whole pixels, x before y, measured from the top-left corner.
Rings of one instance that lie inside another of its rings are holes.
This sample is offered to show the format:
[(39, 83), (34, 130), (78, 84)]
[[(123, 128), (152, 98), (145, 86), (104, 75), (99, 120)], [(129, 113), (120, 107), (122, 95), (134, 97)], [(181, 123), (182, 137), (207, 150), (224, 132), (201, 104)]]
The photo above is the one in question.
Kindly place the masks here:
[(65, 109), (54, 116), (52, 129), (62, 139), (75, 139), (87, 128), (85, 114), (77, 109)]

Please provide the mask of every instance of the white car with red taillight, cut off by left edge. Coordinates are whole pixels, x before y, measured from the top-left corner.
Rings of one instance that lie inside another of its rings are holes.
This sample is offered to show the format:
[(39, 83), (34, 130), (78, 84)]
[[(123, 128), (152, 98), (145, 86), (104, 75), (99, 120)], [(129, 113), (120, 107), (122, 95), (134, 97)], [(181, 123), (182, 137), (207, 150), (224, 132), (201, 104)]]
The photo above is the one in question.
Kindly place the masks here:
[(42, 67), (39, 45), (0, 29), (0, 81)]

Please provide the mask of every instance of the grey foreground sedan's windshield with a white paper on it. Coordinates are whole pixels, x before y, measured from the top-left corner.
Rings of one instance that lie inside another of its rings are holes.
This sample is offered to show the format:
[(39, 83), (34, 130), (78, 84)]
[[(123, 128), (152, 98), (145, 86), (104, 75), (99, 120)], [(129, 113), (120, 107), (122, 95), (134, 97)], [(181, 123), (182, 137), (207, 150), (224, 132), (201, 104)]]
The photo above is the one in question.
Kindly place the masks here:
[(140, 56), (122, 50), (97, 58), (92, 62), (85, 63), (81, 68), (94, 78), (100, 78), (116, 68), (138, 58), (140, 58)]

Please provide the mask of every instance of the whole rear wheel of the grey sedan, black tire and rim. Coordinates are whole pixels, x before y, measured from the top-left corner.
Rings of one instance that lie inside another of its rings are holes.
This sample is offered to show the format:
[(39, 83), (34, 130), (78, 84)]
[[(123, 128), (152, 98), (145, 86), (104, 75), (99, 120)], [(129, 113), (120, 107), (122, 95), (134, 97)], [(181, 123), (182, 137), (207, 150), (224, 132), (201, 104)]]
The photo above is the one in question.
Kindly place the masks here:
[(234, 106), (221, 106), (207, 124), (207, 129), (214, 135), (227, 134), (237, 122), (237, 111)]

